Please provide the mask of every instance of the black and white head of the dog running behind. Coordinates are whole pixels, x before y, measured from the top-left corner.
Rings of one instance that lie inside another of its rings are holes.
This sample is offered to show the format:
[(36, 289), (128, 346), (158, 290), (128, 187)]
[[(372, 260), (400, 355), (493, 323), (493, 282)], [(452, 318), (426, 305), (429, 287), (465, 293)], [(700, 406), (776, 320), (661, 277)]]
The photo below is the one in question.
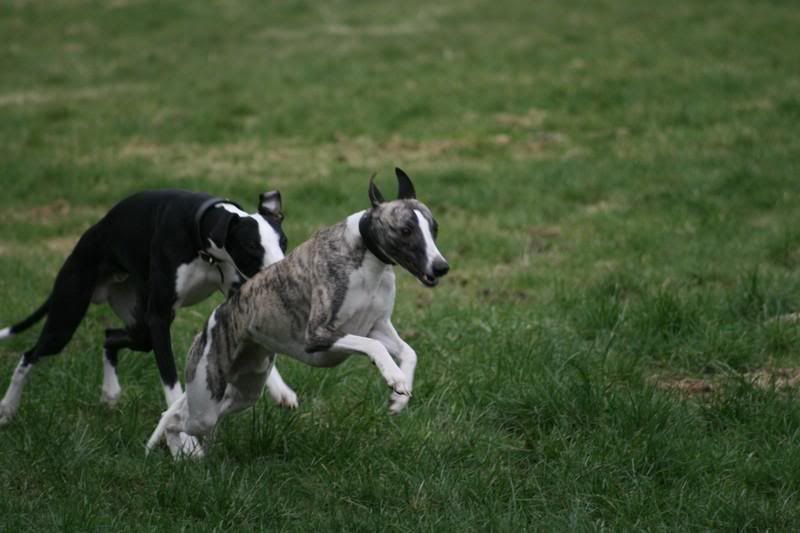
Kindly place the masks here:
[[(261, 194), (254, 214), (231, 204), (218, 205), (214, 210), (217, 221), (209, 233), (213, 247), (219, 252), (224, 249), (242, 275), (253, 277), (284, 257), (287, 240), (281, 208), (281, 195), (277, 191)], [(219, 253), (212, 255), (217, 257)]]

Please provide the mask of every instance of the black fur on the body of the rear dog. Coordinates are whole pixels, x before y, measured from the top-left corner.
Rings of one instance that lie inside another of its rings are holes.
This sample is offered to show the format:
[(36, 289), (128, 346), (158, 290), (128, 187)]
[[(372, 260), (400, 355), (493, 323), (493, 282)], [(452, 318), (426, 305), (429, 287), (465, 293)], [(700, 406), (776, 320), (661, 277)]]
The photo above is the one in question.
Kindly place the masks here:
[[(135, 294), (133, 320), (125, 329), (106, 330), (106, 356), (116, 365), (120, 349), (153, 350), (162, 382), (173, 386), (177, 371), (170, 325), (178, 297), (178, 267), (199, 257), (209, 238), (225, 247), (245, 276), (255, 275), (262, 266), (264, 249), (258, 223), (221, 208), (208, 208), (213, 206), (206, 206), (198, 217), (198, 209), (212, 200), (207, 194), (166, 189), (134, 194), (112, 207), (81, 236), (45, 303), (11, 327), (11, 333), (18, 333), (47, 316), (36, 344), (24, 353), (23, 364), (62, 351), (83, 319), (95, 289), (115, 276), (123, 276)], [(282, 215), (272, 215), (265, 218), (285, 246)]]

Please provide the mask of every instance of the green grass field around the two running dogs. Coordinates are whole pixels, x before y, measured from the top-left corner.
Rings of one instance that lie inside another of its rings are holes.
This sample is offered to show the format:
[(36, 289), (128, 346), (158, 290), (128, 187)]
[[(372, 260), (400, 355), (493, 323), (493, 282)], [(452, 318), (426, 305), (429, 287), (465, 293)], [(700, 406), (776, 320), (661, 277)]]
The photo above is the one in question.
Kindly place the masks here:
[[(281, 359), (300, 408), (201, 463), (144, 456), (152, 356), (100, 404), (93, 308), (0, 430), (0, 531), (796, 530), (798, 27), (780, 0), (4, 2), (0, 326), (143, 188), (280, 189), (291, 247), (398, 165), (452, 271), (398, 275), (406, 412), (365, 360)], [(217, 302), (179, 313), (181, 364)]]

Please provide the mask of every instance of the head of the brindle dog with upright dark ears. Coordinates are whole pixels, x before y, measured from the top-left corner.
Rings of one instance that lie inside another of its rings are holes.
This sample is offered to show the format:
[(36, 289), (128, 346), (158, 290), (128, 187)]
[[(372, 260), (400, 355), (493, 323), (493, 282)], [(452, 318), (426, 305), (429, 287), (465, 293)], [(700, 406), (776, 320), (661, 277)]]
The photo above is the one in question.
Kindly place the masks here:
[(450, 270), (436, 247), (439, 226), (430, 209), (416, 199), (411, 178), (400, 170), (397, 200), (383, 199), (374, 176), (369, 183), (372, 209), (364, 213), (361, 233), (368, 247), (383, 261), (399, 264), (425, 286), (433, 287)]

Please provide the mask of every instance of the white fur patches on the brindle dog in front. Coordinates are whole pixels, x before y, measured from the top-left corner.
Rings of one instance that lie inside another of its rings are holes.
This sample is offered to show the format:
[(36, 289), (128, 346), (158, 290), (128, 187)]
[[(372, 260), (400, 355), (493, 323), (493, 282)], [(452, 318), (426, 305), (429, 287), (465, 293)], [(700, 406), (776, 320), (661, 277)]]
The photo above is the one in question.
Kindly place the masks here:
[[(344, 235), (348, 241), (361, 239), (358, 223), (362, 215), (363, 211), (348, 217)], [(428, 267), (431, 267), (441, 254), (433, 242), (427, 220), (419, 212), (417, 217), (420, 218), (420, 227), (427, 244)], [(237, 371), (230, 376), (221, 401), (216, 401), (211, 396), (206, 379), (208, 358), (213, 350), (212, 329), (216, 324), (216, 316), (212, 314), (206, 331), (207, 344), (198, 361), (194, 379), (186, 384), (186, 394), (162, 415), (147, 441), (148, 451), (166, 436), (173, 456), (193, 455), (200, 449), (173, 450), (175, 446), (170, 443), (174, 441), (175, 435), (181, 431), (192, 435), (207, 434), (213, 430), (220, 417), (251, 406), (257, 398), (257, 395), (253, 395), (253, 390), (258, 389), (255, 385), (259, 383), (264, 372), (269, 372), (266, 382), (270, 394), (280, 403), (276, 392), (282, 390), (285, 383), (277, 369), (274, 366), (270, 368), (276, 352), (285, 353), (312, 366), (335, 366), (352, 353), (366, 355), (392, 388), (389, 412), (399, 413), (411, 396), (417, 355), (392, 326), (390, 319), (395, 290), (392, 267), (367, 252), (360, 267), (350, 273), (347, 293), (337, 312), (337, 328), (350, 333), (337, 339), (324, 352), (306, 353), (305, 346), (296, 340), (276, 340), (260, 333), (257, 326), (251, 327), (251, 341), (257, 342), (261, 349), (253, 351), (253, 346), (247, 345), (237, 348), (237, 357), (241, 359), (237, 360)]]

